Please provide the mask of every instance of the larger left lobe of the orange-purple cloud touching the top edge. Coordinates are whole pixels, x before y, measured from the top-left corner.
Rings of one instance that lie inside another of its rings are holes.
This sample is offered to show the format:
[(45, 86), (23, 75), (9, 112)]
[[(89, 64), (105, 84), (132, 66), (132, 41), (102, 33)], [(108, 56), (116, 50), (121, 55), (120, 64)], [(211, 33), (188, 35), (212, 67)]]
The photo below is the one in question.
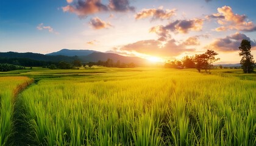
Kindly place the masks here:
[(66, 5), (62, 7), (63, 12), (76, 13), (80, 17), (107, 11), (107, 5), (101, 3), (101, 0), (77, 0), (73, 2), (73, 5)]

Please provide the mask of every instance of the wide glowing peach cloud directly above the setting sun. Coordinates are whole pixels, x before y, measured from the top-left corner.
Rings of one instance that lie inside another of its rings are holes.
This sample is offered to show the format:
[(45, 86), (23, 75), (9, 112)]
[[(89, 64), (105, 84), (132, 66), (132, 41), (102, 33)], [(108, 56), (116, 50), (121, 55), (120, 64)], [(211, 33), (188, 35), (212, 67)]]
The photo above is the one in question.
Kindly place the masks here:
[(183, 52), (191, 52), (194, 49), (185, 49), (183, 44), (176, 44), (175, 40), (166, 41), (165, 44), (158, 40), (143, 40), (135, 43), (127, 44), (120, 50), (138, 52), (140, 54), (172, 57), (182, 54)]

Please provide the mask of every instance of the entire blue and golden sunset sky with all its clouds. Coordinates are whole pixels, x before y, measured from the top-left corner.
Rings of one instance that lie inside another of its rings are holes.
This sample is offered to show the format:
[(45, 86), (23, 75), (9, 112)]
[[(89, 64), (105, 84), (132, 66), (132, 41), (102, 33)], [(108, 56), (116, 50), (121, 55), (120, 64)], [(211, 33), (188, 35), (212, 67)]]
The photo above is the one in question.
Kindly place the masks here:
[(149, 60), (214, 50), (239, 63), (241, 40), (256, 57), (255, 0), (0, 0), (0, 52), (90, 49)]

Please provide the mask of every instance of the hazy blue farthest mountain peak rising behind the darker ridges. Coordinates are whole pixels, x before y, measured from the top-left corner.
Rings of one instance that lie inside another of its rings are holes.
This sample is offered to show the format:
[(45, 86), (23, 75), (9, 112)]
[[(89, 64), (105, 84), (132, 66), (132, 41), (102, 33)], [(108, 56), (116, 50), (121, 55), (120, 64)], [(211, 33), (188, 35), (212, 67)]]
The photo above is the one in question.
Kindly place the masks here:
[(62, 49), (57, 52), (52, 52), (50, 54), (46, 55), (64, 55), (64, 56), (87, 56), (89, 54), (92, 54), (93, 52), (98, 52), (96, 50), (69, 50), (69, 49)]

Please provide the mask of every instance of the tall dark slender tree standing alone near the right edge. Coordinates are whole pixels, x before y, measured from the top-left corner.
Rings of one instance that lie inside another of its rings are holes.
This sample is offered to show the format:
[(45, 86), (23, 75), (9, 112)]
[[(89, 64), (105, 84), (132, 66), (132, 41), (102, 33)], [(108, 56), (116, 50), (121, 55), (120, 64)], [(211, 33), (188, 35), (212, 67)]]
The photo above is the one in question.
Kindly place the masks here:
[(254, 56), (251, 54), (251, 42), (248, 40), (242, 40), (240, 47), (238, 47), (241, 52), (239, 53), (241, 58), (240, 64), (242, 64), (242, 68), (244, 73), (248, 74), (254, 72)]

